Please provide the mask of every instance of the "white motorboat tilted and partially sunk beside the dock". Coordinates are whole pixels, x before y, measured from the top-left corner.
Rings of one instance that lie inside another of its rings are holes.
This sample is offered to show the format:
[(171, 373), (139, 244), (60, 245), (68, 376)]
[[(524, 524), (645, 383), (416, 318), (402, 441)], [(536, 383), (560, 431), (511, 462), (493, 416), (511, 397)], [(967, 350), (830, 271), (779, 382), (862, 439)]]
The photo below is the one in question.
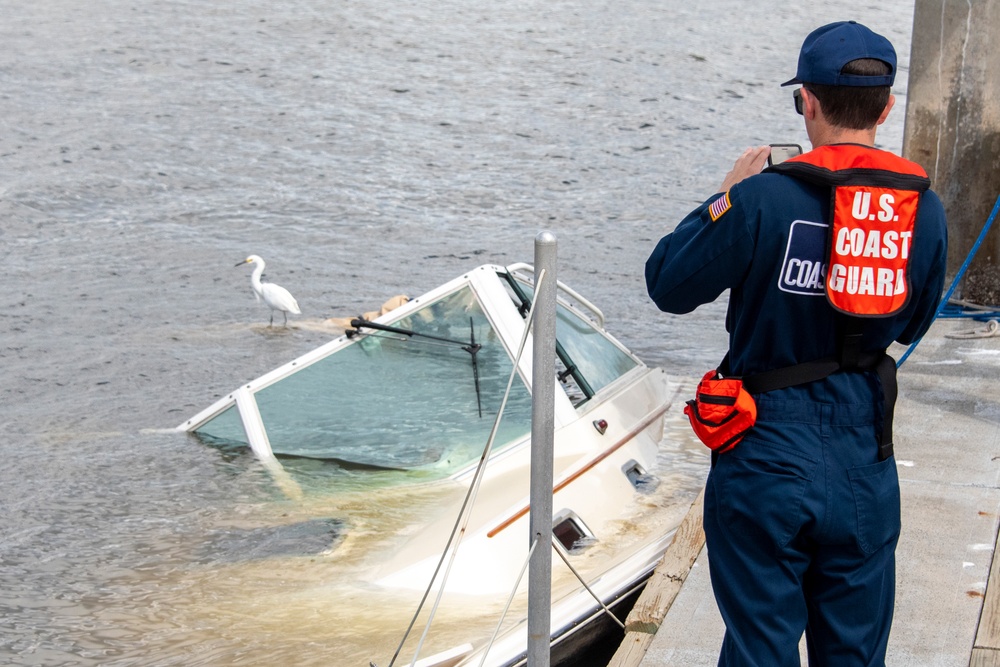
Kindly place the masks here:
[[(341, 479), (353, 503), (403, 506), (374, 530), (369, 516), (356, 539), (351, 517), (337, 517), (348, 537), (326, 557), (362, 550), (364, 567), (351, 576), (363, 598), (394, 599), (425, 619), (434, 603), (438, 616), (413, 633), (419, 641), (400, 644), (405, 664), (523, 664), (532, 387), (525, 327), (534, 284), (529, 265), (480, 266), (374, 321), (353, 320), (345, 335), (178, 427), (213, 445), (250, 447), (272, 468), (323, 461), (316, 465), (343, 473), (331, 484)], [(558, 383), (557, 664), (581, 629), (641, 588), (679, 517), (655, 495), (676, 386), (561, 283), (556, 337), (556, 367), (544, 379)], [(477, 614), (481, 623), (470, 623)], [(454, 618), (463, 619), (461, 637), (449, 631)], [(402, 640), (407, 627), (399, 625), (383, 630)], [(382, 667), (397, 660), (391, 652), (366, 658)]]

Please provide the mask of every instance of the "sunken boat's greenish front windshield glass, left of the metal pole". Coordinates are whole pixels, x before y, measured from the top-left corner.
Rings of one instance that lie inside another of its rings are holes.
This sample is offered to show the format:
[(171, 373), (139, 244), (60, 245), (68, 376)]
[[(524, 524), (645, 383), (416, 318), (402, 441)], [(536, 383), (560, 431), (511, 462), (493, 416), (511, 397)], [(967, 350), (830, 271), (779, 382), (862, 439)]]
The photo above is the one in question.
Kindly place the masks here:
[[(473, 290), (466, 285), (392, 327), (424, 335), (363, 328), (352, 344), (254, 394), (275, 454), (442, 476), (480, 457), (512, 361)], [(531, 396), (518, 376), (494, 451), (530, 431)], [(247, 441), (235, 406), (196, 432)]]

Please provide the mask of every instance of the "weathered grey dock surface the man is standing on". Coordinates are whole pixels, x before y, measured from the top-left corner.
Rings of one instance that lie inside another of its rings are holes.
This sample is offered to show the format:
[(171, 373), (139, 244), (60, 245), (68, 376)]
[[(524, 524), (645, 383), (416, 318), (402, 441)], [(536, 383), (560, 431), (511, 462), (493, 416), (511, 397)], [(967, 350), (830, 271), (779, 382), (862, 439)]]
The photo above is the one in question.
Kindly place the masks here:
[[(900, 369), (903, 530), (888, 665), (1000, 666), (1000, 338), (957, 337), (985, 329), (939, 319)], [(700, 498), (691, 523), (636, 604), (611, 665), (716, 664), (724, 626), (701, 548)]]

